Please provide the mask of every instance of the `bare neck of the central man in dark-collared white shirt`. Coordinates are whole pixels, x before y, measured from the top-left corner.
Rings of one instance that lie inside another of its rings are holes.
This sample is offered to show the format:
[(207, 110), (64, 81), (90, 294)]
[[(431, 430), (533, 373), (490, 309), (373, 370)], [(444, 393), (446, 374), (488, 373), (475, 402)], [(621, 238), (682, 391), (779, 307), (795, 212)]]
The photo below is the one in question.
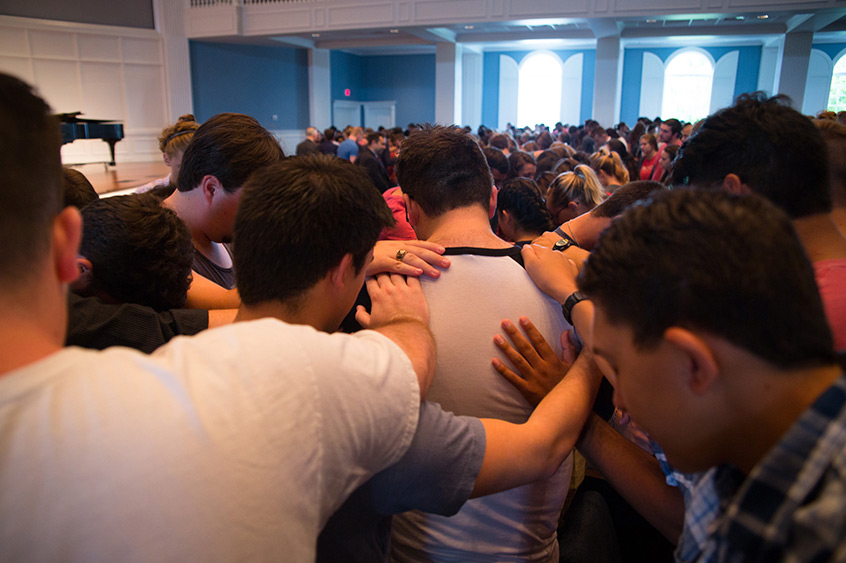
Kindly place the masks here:
[(451, 209), (438, 217), (421, 218), (415, 229), (423, 240), (442, 246), (475, 246), (478, 248), (508, 248), (491, 231), (490, 217), (481, 205)]

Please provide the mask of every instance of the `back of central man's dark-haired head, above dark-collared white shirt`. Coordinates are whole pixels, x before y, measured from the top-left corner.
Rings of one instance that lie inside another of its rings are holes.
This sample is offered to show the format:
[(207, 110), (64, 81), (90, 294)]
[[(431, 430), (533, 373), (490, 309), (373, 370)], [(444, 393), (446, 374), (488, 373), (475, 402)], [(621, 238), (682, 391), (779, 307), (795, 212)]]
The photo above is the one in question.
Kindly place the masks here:
[(488, 208), (493, 177), (476, 141), (460, 129), (425, 126), (397, 158), (402, 191), (430, 217), (459, 207)]

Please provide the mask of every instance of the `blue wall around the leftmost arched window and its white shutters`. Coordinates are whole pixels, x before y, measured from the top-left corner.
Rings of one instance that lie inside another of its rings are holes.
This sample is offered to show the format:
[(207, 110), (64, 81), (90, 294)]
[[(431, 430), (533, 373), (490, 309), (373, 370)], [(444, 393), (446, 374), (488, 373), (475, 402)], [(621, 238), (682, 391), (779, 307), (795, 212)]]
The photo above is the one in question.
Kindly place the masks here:
[[(486, 52), (482, 77), (482, 123), (487, 127), (497, 127), (499, 121), (499, 56), (508, 55), (520, 64), (527, 55), (534, 51), (499, 51)], [(582, 53), (582, 123), (593, 115), (593, 80), (596, 73), (596, 51), (552, 51), (561, 62), (566, 62), (573, 55)], [(565, 92), (566, 93), (566, 92)]]

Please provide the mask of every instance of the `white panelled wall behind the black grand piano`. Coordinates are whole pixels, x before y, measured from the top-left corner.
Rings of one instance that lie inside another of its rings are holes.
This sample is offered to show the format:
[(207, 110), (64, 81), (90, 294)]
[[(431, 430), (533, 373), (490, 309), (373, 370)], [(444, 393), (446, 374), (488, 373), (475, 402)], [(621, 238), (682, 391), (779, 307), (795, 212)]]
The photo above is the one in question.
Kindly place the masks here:
[[(4, 17), (0, 70), (35, 86), (56, 112), (121, 121), (119, 162), (158, 160), (156, 137), (170, 123), (162, 44), (150, 30)], [(62, 146), (65, 163), (103, 162), (108, 154), (100, 140)]]

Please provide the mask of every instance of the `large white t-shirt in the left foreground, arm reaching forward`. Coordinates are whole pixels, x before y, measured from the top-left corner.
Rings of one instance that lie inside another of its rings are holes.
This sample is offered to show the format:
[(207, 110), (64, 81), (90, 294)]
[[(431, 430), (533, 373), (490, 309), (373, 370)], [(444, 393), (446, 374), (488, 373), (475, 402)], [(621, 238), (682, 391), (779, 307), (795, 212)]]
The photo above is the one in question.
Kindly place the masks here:
[(260, 320), (0, 377), (0, 561), (308, 561), (417, 424), (384, 336)]

